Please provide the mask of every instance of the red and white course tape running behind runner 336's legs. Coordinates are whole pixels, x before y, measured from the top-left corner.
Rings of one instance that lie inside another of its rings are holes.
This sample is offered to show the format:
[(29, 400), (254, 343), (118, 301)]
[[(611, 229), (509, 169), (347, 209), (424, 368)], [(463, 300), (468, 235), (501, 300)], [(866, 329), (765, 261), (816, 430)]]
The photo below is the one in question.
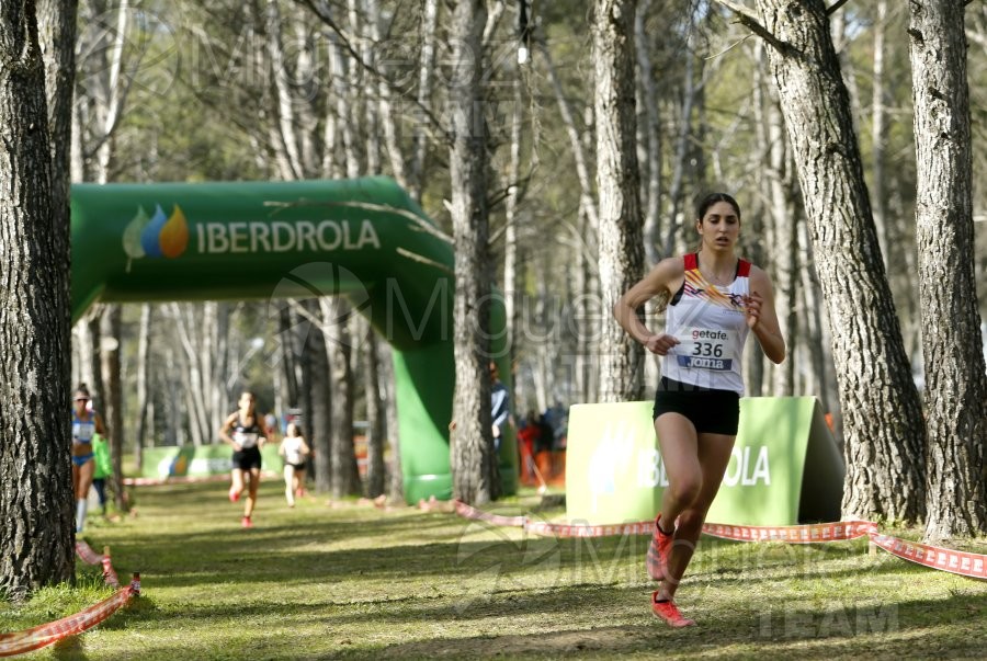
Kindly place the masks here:
[[(465, 518), (486, 521), (494, 525), (521, 527), (535, 535), (610, 537), (614, 535), (650, 535), (655, 529), (654, 521), (614, 525), (546, 523), (531, 521), (527, 516), (490, 514), (461, 501), (454, 501), (454, 504), (456, 513)], [(789, 544), (817, 544), (870, 537), (873, 544), (898, 558), (973, 579), (987, 579), (987, 555), (940, 548), (883, 535), (877, 529), (877, 524), (870, 521), (840, 521), (787, 526), (706, 523), (703, 524), (703, 533), (736, 542), (786, 542)]]

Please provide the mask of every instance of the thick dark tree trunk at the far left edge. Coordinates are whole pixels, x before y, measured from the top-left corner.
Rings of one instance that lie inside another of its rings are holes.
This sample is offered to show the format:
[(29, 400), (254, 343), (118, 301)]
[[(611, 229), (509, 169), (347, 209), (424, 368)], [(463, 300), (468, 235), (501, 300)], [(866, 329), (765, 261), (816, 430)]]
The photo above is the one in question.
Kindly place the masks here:
[[(56, 8), (48, 20), (54, 33), (66, 34), (59, 23), (75, 16)], [(69, 237), (52, 197), (45, 64), (32, 0), (0, 3), (0, 592), (20, 599), (71, 580), (75, 567)]]

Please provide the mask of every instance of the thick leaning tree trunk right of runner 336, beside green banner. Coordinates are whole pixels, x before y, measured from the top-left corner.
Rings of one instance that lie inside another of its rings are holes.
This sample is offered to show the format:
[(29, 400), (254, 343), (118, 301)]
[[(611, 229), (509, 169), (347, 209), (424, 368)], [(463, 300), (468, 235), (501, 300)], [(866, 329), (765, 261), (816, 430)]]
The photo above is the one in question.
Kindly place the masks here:
[[(843, 413), (843, 515), (917, 521), (924, 429), (822, 0), (758, 0), (812, 226)], [(782, 311), (784, 314), (784, 311)]]

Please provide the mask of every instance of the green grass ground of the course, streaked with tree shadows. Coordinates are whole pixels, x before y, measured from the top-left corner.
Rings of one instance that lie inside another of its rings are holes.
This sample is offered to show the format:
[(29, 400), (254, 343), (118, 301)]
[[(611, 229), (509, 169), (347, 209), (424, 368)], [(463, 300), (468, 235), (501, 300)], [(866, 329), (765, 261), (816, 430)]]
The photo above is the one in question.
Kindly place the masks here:
[[(984, 658), (987, 582), (924, 569), (865, 540), (813, 546), (704, 538), (679, 591), (700, 626), (648, 609), (646, 537), (555, 539), (410, 508), (295, 510), (274, 479), (256, 527), (226, 485), (144, 487), (137, 516), (90, 517), (143, 596), (24, 659)], [(530, 513), (529, 494), (495, 508)], [(557, 518), (560, 510), (536, 513)], [(916, 538), (915, 531), (897, 531)], [(979, 552), (983, 552), (980, 549)], [(0, 631), (78, 612), (112, 590), (79, 562), (76, 588), (0, 604)]]

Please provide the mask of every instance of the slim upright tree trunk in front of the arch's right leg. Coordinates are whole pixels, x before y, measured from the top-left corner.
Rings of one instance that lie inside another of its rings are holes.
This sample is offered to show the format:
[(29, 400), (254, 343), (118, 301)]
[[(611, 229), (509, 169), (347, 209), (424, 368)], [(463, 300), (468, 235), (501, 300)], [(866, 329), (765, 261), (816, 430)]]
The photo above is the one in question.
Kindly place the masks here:
[(484, 0), (462, 0), (452, 15), (449, 80), (450, 178), (456, 292), (453, 344), (456, 389), (450, 452), (453, 498), (483, 504), (500, 493), (490, 418), (490, 257), (487, 136), (484, 125)]

